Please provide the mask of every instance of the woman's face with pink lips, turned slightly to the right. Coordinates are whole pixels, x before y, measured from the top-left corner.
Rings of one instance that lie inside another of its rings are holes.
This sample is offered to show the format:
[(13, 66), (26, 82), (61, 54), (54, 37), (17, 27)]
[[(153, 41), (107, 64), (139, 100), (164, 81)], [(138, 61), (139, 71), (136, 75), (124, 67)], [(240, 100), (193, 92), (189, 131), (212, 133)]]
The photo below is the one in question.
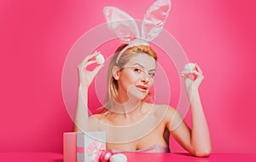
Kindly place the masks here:
[(137, 54), (131, 57), (124, 68), (119, 71), (119, 96), (123, 101), (128, 96), (143, 100), (154, 84), (156, 61), (147, 54)]

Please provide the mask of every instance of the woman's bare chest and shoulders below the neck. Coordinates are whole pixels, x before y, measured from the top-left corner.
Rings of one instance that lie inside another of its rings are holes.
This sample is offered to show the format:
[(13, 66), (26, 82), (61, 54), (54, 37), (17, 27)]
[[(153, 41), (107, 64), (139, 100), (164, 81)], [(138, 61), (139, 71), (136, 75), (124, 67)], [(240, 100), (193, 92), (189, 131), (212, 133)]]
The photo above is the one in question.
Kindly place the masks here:
[(89, 118), (90, 130), (107, 132), (107, 148), (131, 151), (146, 149), (155, 144), (168, 147), (169, 136), (166, 139), (163, 136), (166, 110), (164, 106), (143, 103), (143, 107), (130, 115), (96, 114)]

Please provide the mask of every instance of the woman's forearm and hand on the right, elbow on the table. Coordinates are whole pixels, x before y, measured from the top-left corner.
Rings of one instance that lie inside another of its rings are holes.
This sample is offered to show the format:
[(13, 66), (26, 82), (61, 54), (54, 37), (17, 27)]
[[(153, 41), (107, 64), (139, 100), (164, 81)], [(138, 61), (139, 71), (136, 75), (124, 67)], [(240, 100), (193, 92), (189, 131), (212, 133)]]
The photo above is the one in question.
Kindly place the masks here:
[[(194, 69), (184, 69), (185, 86), (189, 96), (191, 108), (191, 146), (195, 154), (207, 156), (211, 153), (211, 137), (208, 129), (207, 119), (201, 105), (199, 87), (204, 79), (201, 68), (195, 64)], [(189, 76), (193, 75), (193, 78)]]

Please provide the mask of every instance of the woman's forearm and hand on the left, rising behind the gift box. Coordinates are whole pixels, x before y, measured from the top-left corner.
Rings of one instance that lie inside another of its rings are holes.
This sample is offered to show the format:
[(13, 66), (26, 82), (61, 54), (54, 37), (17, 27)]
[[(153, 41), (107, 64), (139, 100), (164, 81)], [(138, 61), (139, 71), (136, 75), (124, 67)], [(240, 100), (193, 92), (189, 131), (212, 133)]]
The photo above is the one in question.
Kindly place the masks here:
[(91, 55), (88, 55), (84, 61), (78, 65), (79, 70), (79, 90), (78, 90), (78, 99), (77, 107), (75, 112), (75, 119), (73, 125), (73, 131), (88, 130), (88, 89), (93, 79), (96, 76), (96, 73), (103, 67), (98, 65), (92, 71), (86, 69), (93, 63), (96, 63), (96, 60), (91, 60), (99, 55), (100, 52), (94, 52)]

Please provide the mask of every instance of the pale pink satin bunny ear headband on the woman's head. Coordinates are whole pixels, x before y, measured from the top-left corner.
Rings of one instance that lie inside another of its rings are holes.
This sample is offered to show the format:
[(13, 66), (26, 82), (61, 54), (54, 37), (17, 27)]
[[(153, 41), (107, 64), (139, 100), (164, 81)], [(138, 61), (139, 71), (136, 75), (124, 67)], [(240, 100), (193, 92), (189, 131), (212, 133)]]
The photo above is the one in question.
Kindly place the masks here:
[(108, 28), (115, 33), (121, 43), (128, 43), (119, 52), (116, 63), (118, 63), (120, 56), (126, 49), (138, 45), (148, 45), (149, 41), (156, 38), (163, 29), (170, 9), (170, 0), (156, 0), (143, 17), (141, 36), (137, 23), (131, 15), (115, 7), (105, 7), (103, 12)]

